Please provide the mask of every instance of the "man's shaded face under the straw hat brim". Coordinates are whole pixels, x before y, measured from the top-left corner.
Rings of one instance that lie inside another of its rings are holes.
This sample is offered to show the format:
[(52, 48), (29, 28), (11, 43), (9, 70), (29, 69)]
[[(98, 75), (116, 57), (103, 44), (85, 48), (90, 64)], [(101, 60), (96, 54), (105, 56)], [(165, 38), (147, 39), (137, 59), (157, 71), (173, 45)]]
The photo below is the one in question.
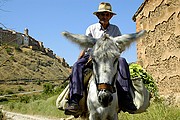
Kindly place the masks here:
[(113, 14), (110, 12), (99, 12), (96, 14), (99, 21), (103, 24), (108, 24), (109, 20), (112, 18)]

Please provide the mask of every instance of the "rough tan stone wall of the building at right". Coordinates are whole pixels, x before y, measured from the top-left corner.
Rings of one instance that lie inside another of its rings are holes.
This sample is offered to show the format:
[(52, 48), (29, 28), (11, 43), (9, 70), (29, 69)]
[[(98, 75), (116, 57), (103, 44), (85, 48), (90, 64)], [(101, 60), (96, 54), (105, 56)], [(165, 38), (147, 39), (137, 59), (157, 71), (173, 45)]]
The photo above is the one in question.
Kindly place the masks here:
[[(180, 0), (145, 0), (135, 13), (138, 63), (157, 81), (161, 95), (180, 93)], [(180, 102), (180, 101), (179, 101)]]

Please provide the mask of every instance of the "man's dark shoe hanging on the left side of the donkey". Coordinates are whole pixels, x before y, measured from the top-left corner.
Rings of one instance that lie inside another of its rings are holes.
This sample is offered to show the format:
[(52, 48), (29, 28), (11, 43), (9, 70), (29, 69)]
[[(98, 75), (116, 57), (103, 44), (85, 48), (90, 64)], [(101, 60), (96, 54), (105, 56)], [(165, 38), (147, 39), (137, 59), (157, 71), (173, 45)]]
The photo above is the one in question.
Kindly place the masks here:
[(74, 115), (78, 116), (82, 113), (82, 110), (78, 104), (70, 104), (67, 108), (65, 108), (65, 115)]

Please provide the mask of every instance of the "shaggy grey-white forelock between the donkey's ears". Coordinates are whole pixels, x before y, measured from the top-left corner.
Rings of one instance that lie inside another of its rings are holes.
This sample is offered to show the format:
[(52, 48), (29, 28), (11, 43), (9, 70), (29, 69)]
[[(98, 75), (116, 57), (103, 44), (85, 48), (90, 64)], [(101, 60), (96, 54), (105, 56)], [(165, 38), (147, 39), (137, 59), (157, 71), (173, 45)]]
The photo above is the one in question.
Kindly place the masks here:
[(103, 37), (96, 42), (92, 56), (98, 57), (99, 59), (119, 57), (120, 53), (118, 51), (119, 49), (113, 40), (109, 37)]

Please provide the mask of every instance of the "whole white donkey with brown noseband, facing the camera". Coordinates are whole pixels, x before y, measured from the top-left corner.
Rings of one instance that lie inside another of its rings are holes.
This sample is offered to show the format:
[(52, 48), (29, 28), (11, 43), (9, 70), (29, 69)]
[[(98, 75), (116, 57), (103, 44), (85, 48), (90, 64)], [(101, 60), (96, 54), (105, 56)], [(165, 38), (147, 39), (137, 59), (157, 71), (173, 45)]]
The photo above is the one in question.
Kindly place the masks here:
[(116, 79), (120, 54), (145, 31), (100, 39), (63, 32), (62, 35), (80, 47), (92, 48), (93, 75), (90, 79), (87, 106), (90, 120), (118, 120)]

